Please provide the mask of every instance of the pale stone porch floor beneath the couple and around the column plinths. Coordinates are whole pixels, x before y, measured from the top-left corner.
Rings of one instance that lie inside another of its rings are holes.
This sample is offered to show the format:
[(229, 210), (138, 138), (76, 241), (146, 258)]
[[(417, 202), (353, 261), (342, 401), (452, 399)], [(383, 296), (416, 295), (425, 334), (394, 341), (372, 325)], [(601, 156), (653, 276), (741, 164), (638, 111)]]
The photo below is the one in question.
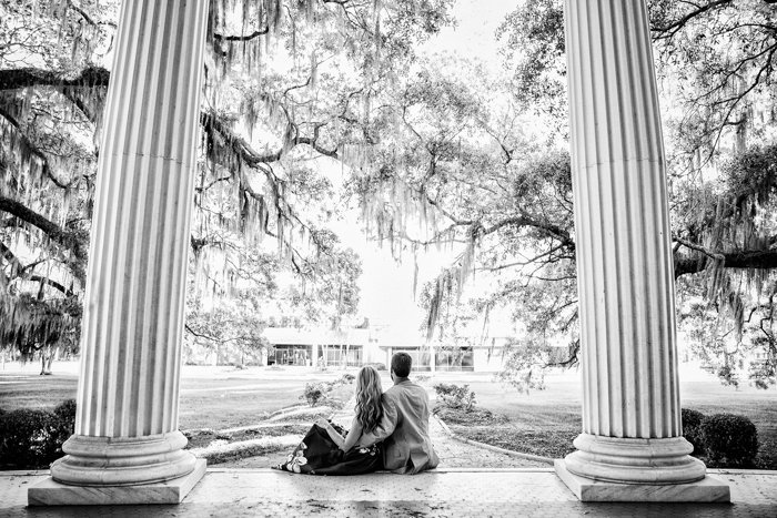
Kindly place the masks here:
[(549, 468), (447, 468), (416, 476), (311, 477), (211, 468), (179, 506), (28, 508), (46, 471), (0, 473), (0, 517), (777, 517), (777, 471), (709, 470), (731, 504), (582, 504)]

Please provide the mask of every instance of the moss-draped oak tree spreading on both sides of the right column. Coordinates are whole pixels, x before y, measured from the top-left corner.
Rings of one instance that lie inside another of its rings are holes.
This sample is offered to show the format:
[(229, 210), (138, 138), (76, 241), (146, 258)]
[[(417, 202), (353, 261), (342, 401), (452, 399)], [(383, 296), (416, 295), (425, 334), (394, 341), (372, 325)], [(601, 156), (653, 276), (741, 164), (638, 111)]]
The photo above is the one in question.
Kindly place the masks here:
[[(775, 8), (649, 7), (680, 331), (725, 383), (755, 354), (747, 374), (767, 387), (777, 367)], [(544, 367), (574, 365), (579, 352), (562, 8), (531, 0), (507, 17), (498, 33), (509, 80), (441, 57), (416, 67), (387, 103), (391, 135), (372, 151), (381, 174), (353, 184), (397, 255), (461, 252), (422, 290), (431, 342), (472, 345), (466, 327), (514, 311), (521, 338), (502, 377), (519, 389), (541, 387)], [(410, 219), (425, 231), (408, 232)], [(467, 293), (471, 276), (486, 293)]]

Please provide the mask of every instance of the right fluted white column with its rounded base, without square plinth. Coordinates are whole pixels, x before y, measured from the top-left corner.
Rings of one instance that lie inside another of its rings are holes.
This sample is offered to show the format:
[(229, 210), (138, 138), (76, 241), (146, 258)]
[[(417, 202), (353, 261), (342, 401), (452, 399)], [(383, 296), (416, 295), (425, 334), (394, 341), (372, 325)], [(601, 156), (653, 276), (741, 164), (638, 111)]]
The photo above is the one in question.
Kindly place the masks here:
[(567, 0), (583, 434), (596, 480), (705, 477), (682, 437), (666, 163), (644, 0)]

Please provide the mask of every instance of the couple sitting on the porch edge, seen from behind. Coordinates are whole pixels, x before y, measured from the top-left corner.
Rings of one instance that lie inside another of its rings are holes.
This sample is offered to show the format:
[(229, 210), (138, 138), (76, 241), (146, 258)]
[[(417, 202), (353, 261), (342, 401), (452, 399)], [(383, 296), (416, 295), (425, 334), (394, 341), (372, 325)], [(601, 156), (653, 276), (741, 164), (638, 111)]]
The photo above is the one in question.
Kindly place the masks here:
[[(373, 367), (362, 367), (356, 378), (356, 415), (347, 434), (319, 419), (284, 464), (274, 469), (310, 475), (360, 475), (389, 469), (416, 474), (437, 466), (428, 437), (428, 396), (407, 379), (412, 358), (391, 358), (394, 386), (383, 394)], [(345, 437), (343, 437), (345, 435)]]

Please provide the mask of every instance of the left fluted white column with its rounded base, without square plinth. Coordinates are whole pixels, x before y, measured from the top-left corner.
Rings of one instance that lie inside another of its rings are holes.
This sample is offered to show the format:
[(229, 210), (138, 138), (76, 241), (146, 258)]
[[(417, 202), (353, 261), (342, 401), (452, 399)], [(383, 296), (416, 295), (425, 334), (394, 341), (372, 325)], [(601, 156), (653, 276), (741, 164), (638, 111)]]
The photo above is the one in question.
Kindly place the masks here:
[(178, 430), (208, 0), (124, 0), (98, 164), (75, 435), (51, 475), (188, 475)]

